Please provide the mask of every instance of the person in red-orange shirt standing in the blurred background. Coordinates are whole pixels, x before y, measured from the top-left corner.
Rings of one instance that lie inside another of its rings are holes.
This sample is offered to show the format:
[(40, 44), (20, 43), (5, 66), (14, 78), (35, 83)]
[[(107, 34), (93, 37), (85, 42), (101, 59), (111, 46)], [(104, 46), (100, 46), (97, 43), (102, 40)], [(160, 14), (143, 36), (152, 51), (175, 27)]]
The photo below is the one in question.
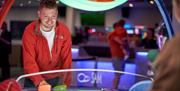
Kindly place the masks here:
[[(111, 49), (111, 56), (113, 58), (113, 67), (114, 70), (123, 71), (125, 62), (125, 49), (124, 42), (122, 40), (127, 36), (126, 30), (122, 27), (124, 25), (124, 20), (120, 20), (120, 22), (115, 23), (113, 25), (114, 30), (109, 33), (108, 40)], [(121, 26), (121, 27), (120, 27)], [(120, 74), (115, 74), (113, 88), (117, 89), (119, 85)]]

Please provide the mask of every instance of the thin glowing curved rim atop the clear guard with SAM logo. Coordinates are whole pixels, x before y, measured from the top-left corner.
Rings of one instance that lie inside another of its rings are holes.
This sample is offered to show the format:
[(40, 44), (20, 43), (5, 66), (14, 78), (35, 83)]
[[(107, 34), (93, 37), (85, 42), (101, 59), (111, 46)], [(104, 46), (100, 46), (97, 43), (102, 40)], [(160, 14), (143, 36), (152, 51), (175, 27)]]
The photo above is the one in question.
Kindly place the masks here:
[(25, 78), (25, 77), (30, 77), (30, 76), (35, 76), (35, 75), (42, 75), (42, 74), (49, 74), (49, 73), (57, 73), (57, 72), (74, 72), (74, 71), (96, 71), (96, 72), (113, 72), (113, 73), (122, 73), (122, 74), (128, 74), (128, 75), (134, 75), (134, 76), (139, 76), (139, 77), (144, 77), (148, 78), (153, 81), (153, 78), (140, 75), (140, 74), (135, 74), (135, 73), (130, 73), (130, 72), (123, 72), (123, 71), (115, 71), (115, 70), (104, 70), (104, 69), (63, 69), (63, 70), (51, 70), (51, 71), (43, 71), (43, 72), (37, 72), (37, 73), (31, 73), (31, 74), (25, 74), (21, 75), (16, 79), (17, 82), (19, 82), (20, 79)]

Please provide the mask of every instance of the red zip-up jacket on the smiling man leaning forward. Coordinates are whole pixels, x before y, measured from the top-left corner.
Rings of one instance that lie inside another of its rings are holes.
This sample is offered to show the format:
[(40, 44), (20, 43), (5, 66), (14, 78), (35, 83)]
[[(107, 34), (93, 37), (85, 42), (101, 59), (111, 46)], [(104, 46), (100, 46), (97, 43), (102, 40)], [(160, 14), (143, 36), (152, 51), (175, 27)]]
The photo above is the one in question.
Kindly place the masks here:
[[(54, 43), (51, 51), (52, 56), (49, 52), (47, 40), (40, 32), (38, 20), (26, 27), (22, 37), (22, 47), (24, 72), (26, 74), (71, 68), (71, 34), (68, 28), (60, 22), (57, 22), (55, 28)], [(69, 85), (71, 73), (37, 75), (30, 77), (30, 79), (37, 86), (44, 79), (61, 77), (62, 75), (64, 83)]]

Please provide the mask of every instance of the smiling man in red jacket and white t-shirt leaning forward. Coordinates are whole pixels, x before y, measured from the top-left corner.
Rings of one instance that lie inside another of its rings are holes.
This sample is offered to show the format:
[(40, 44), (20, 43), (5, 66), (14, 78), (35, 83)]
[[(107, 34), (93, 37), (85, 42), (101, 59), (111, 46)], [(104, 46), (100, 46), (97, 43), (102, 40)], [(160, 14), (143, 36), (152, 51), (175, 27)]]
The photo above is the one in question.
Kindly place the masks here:
[[(57, 21), (57, 7), (56, 0), (41, 0), (39, 19), (29, 24), (24, 31), (22, 47), (26, 74), (71, 68), (71, 34), (63, 23)], [(33, 82), (37, 87), (56, 85), (54, 82), (60, 80), (60, 84), (69, 86), (71, 73), (32, 76), (28, 84)]]

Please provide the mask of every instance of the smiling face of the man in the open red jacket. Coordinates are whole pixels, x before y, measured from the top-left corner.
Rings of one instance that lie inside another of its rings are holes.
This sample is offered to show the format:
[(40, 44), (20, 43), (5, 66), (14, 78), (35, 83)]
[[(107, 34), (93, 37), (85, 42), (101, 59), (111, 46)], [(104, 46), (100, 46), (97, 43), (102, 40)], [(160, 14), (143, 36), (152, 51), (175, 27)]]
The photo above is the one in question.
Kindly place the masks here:
[(38, 16), (41, 20), (41, 26), (45, 30), (50, 30), (56, 24), (58, 11), (56, 8), (49, 9), (44, 7), (38, 11)]

